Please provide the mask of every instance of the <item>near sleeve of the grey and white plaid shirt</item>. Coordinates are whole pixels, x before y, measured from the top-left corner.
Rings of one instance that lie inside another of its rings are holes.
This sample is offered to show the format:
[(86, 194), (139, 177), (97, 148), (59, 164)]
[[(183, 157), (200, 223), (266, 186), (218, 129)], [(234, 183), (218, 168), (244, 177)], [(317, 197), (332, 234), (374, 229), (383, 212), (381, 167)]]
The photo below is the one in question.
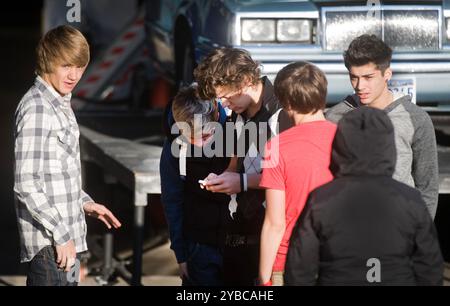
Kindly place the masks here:
[(49, 156), (51, 110), (33, 103), (16, 116), (14, 191), (33, 218), (53, 234), (57, 244), (70, 240), (67, 226), (45, 193), (44, 159)]

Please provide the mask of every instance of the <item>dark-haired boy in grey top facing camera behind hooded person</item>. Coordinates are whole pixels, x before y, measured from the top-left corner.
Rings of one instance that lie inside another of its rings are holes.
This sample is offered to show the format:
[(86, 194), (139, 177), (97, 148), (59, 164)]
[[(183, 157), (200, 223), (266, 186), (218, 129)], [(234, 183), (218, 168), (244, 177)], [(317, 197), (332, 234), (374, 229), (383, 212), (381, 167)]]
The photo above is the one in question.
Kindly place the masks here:
[(393, 178), (421, 192), (432, 218), (436, 215), (439, 183), (436, 137), (430, 116), (411, 103), (409, 95), (392, 93), (388, 81), (392, 50), (375, 35), (354, 39), (344, 53), (345, 66), (355, 94), (326, 112), (338, 122), (358, 107), (383, 110), (395, 129), (397, 163)]

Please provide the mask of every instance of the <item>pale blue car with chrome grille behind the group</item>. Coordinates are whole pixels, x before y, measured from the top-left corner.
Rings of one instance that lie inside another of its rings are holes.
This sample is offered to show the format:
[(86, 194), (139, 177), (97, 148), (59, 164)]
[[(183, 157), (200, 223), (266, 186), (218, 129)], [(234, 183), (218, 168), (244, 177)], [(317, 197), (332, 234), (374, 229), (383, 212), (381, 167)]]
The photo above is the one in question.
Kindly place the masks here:
[(190, 83), (213, 48), (243, 48), (273, 80), (290, 62), (309, 61), (328, 79), (329, 105), (353, 92), (343, 51), (374, 34), (394, 50), (393, 91), (430, 110), (450, 101), (450, 0), (164, 0), (147, 1), (151, 60), (177, 84)]

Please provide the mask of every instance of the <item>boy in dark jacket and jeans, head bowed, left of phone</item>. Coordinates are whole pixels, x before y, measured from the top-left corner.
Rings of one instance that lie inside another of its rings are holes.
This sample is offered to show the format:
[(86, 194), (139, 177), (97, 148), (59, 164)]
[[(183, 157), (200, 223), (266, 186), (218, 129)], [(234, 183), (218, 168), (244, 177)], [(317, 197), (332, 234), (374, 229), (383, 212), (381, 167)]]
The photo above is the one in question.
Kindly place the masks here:
[(200, 99), (197, 86), (191, 85), (179, 90), (164, 119), (167, 139), (160, 160), (161, 201), (182, 284), (223, 285), (229, 197), (207, 191), (199, 180), (210, 172), (224, 171), (229, 164), (222, 151), (207, 155), (208, 149), (215, 150), (223, 141), (223, 134), (216, 132), (225, 130), (225, 110), (214, 100)]

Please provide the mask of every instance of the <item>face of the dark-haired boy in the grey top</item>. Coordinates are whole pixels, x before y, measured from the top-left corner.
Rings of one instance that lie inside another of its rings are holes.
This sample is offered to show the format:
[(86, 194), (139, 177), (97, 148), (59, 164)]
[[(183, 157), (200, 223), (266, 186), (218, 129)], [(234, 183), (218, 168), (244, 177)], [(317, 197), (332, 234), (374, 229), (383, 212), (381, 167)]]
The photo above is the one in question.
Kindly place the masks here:
[(392, 77), (392, 70), (387, 68), (382, 73), (374, 63), (368, 63), (363, 66), (351, 67), (349, 76), (361, 103), (370, 105), (378, 102), (382, 94), (388, 90), (387, 82)]

